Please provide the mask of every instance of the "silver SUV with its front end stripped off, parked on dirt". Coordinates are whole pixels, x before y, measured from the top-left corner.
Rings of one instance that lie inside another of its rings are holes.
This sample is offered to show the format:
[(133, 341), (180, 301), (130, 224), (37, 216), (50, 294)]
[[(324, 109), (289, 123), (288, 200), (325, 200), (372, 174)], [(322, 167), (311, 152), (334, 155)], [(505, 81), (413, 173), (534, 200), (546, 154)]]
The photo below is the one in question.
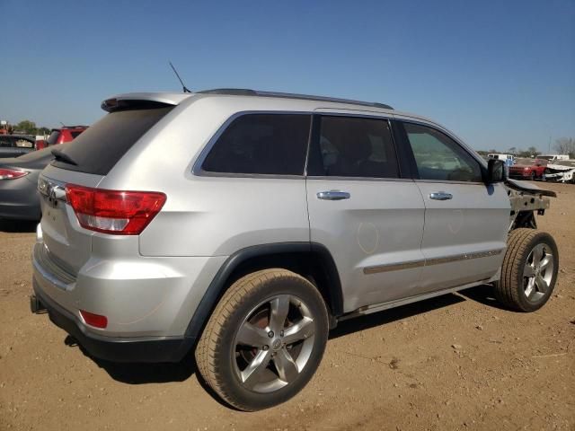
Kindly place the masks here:
[(41, 174), (33, 312), (93, 356), (180, 361), (237, 409), (288, 400), (338, 321), (494, 284), (553, 291), (549, 207), (437, 123), (252, 90), (132, 93)]

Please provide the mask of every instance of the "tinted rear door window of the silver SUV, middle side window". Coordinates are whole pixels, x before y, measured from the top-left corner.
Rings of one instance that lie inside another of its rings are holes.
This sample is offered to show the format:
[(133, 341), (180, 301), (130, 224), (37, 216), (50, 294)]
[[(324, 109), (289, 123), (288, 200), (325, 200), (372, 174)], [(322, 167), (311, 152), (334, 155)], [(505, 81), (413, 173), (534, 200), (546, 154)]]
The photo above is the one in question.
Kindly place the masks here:
[(321, 119), (318, 142), (310, 150), (308, 175), (398, 178), (389, 123), (385, 119)]

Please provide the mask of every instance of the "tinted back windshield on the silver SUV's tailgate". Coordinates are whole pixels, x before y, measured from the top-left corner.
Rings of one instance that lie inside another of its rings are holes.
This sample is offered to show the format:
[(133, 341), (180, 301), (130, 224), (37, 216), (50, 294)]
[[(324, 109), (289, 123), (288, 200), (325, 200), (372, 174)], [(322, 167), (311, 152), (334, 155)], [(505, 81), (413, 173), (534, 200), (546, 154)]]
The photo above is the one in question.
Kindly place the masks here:
[(132, 145), (164, 117), (173, 106), (147, 110), (120, 110), (106, 115), (66, 148), (58, 148), (76, 164), (52, 162), (69, 171), (107, 175)]

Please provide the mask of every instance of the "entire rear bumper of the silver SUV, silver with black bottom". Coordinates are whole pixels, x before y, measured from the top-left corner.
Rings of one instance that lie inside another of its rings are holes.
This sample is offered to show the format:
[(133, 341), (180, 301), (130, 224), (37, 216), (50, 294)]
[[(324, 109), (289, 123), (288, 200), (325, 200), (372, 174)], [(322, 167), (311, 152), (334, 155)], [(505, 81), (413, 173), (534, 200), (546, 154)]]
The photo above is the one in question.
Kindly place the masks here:
[[(226, 257), (142, 257), (137, 238), (128, 238), (128, 245), (134, 242), (128, 255), (126, 248), (116, 255), (109, 248), (104, 259), (93, 244), (92, 257), (71, 274), (50, 255), (42, 237), (39, 226), (32, 252), (34, 294), (50, 319), (92, 356), (114, 362), (177, 362), (194, 345), (199, 331), (188, 335), (186, 330)], [(106, 328), (86, 324), (80, 310), (106, 316)]]

